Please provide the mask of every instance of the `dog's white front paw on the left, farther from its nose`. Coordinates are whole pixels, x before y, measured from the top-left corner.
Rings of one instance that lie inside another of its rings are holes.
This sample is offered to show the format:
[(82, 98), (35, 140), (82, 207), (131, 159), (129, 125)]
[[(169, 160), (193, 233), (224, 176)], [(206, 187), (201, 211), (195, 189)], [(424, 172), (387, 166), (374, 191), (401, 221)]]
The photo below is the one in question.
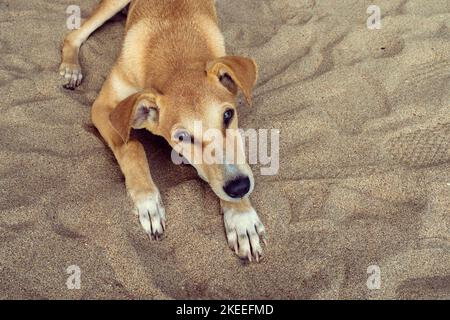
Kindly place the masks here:
[(159, 192), (142, 197), (135, 206), (135, 213), (149, 238), (160, 240), (166, 229), (166, 210)]

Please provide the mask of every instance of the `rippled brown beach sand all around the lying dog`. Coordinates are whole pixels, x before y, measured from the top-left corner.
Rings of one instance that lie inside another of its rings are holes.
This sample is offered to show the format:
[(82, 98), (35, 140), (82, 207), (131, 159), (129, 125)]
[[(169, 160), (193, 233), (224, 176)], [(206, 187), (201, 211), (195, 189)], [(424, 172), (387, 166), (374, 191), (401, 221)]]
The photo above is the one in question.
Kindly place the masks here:
[(251, 265), (209, 187), (138, 133), (169, 219), (148, 241), (90, 122), (125, 17), (85, 44), (84, 83), (66, 91), (73, 2), (0, 0), (1, 299), (450, 298), (450, 2), (378, 0), (369, 30), (371, 1), (217, 1), (228, 52), (261, 68), (241, 125), (281, 129), (279, 174), (254, 166), (269, 245)]

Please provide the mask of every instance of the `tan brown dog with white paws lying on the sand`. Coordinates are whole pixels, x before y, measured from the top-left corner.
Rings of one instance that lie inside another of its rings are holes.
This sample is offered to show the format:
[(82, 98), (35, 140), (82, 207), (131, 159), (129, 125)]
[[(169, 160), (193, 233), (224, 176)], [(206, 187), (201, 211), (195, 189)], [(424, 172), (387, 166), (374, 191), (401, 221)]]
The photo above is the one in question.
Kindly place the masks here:
[(144, 148), (130, 139), (133, 128), (162, 136), (172, 147), (182, 142), (183, 156), (220, 198), (230, 247), (259, 261), (264, 226), (248, 199), (254, 187), (249, 166), (191, 161), (192, 150), (204, 152), (211, 143), (194, 135), (194, 122), (237, 129), (237, 95), (250, 103), (257, 79), (253, 60), (226, 56), (213, 0), (103, 0), (64, 41), (60, 73), (66, 86), (80, 85), (82, 43), (130, 2), (122, 52), (92, 107), (92, 121), (117, 158), (140, 222), (159, 239), (166, 216)]

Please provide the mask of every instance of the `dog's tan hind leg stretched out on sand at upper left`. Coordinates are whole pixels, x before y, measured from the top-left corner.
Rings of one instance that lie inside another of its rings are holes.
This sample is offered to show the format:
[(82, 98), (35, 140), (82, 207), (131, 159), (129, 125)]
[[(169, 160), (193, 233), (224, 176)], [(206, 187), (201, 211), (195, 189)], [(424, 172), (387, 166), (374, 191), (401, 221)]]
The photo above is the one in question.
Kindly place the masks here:
[(69, 33), (64, 40), (62, 49), (62, 61), (59, 68), (60, 74), (66, 79), (64, 88), (74, 90), (81, 84), (83, 75), (78, 60), (81, 45), (87, 38), (111, 19), (116, 13), (124, 9), (131, 0), (103, 0), (87, 19), (80, 29)]

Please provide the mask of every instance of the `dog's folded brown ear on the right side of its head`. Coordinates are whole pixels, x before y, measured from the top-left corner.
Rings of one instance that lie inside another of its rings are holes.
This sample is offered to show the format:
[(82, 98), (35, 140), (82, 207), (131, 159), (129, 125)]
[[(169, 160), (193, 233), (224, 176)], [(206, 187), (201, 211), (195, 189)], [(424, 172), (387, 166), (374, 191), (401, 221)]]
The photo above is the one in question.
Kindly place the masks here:
[(207, 74), (217, 77), (220, 83), (233, 94), (242, 91), (247, 103), (252, 103), (252, 91), (258, 79), (258, 67), (254, 60), (244, 57), (227, 56), (211, 61)]

